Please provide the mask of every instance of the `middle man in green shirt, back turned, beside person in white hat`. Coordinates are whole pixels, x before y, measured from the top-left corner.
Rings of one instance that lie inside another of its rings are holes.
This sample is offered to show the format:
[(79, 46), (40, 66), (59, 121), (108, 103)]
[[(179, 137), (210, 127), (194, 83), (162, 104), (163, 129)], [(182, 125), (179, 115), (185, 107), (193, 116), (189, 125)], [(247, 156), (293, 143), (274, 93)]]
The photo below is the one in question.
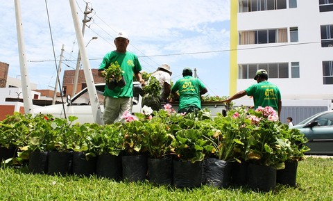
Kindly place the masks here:
[(201, 109), (201, 95), (207, 93), (207, 88), (203, 83), (192, 77), (192, 70), (185, 67), (182, 70), (182, 79), (178, 79), (171, 88), (171, 93), (178, 98), (178, 113), (198, 113)]

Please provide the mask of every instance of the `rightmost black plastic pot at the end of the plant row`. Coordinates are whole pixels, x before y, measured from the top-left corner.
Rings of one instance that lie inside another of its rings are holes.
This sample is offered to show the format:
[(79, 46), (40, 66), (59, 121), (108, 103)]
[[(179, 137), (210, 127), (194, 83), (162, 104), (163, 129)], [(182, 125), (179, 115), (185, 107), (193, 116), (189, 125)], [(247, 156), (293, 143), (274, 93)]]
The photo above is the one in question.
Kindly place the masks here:
[(276, 171), (276, 182), (279, 184), (296, 186), (298, 161), (284, 162), (286, 168)]

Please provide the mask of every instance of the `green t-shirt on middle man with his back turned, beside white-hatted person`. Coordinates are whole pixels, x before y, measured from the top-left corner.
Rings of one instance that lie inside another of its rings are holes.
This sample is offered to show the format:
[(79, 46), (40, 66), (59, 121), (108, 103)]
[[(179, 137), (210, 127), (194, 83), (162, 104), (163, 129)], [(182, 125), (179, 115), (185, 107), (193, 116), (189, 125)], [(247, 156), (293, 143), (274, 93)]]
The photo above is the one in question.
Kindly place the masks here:
[(200, 91), (205, 88), (205, 85), (197, 78), (185, 76), (178, 79), (171, 89), (172, 93), (176, 91), (179, 93), (178, 111), (188, 106), (196, 106), (201, 109)]

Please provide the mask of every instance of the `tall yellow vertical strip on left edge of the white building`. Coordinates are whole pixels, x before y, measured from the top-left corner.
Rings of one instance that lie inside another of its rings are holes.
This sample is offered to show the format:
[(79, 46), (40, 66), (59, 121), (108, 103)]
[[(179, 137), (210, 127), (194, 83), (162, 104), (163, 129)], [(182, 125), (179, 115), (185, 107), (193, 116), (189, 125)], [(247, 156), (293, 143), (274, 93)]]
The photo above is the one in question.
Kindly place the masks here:
[(229, 78), (229, 95), (237, 93), (237, 45), (238, 45), (238, 31), (237, 31), (237, 10), (238, 1), (230, 1), (230, 78)]

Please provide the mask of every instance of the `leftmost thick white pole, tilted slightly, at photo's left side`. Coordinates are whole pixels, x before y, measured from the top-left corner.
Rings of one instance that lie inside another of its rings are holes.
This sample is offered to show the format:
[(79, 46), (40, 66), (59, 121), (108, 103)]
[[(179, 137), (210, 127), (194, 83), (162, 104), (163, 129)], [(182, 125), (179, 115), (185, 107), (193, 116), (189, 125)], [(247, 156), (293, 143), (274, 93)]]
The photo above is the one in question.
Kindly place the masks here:
[(31, 97), (30, 81), (28, 76), (28, 70), (26, 69), (26, 49), (24, 47), (23, 23), (19, 0), (15, 0), (15, 17), (17, 29), (17, 45), (19, 46), (19, 66), (21, 70), (24, 113), (33, 114), (33, 98)]

